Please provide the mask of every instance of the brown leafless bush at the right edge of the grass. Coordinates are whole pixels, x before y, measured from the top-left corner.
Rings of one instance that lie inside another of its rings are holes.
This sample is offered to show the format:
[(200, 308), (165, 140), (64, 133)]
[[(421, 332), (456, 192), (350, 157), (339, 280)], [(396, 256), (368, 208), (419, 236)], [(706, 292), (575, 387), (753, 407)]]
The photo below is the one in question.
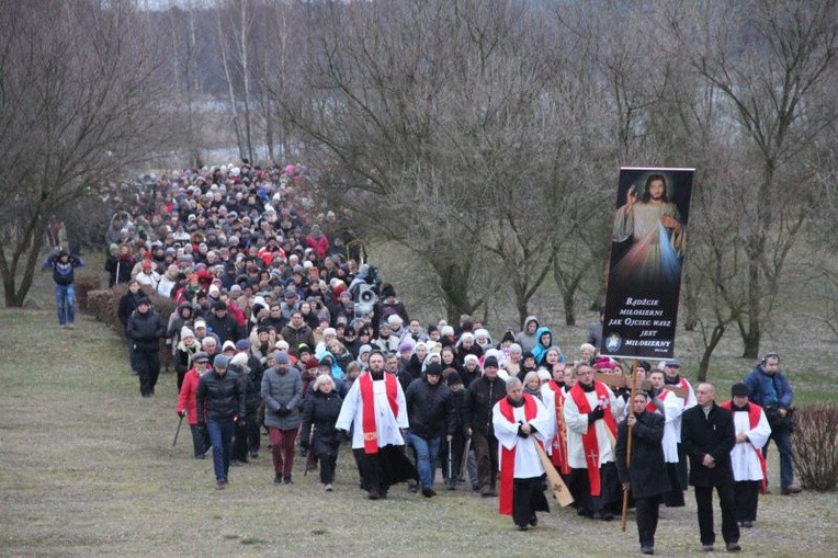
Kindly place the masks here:
[(797, 476), (805, 488), (833, 490), (838, 486), (838, 407), (819, 403), (794, 413), (792, 442)]

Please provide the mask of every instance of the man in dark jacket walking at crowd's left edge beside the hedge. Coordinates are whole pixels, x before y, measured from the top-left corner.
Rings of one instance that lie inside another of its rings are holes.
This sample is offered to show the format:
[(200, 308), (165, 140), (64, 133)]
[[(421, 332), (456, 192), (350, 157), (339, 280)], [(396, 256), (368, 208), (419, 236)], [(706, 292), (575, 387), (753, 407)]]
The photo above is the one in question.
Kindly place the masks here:
[(132, 341), (131, 367), (139, 376), (139, 395), (151, 397), (160, 375), (160, 338), (166, 334), (160, 315), (151, 308), (151, 301), (143, 296), (137, 309), (128, 318), (125, 335)]

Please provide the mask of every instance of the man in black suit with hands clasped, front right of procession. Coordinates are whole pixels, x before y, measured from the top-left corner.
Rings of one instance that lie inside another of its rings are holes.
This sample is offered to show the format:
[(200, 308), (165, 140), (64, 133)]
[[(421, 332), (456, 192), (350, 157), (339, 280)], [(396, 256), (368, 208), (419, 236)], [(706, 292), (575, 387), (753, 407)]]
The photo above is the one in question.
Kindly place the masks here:
[(722, 508), (722, 536), (727, 551), (735, 553), (741, 550), (731, 467), (731, 449), (736, 444), (736, 432), (733, 414), (716, 405), (715, 396), (713, 384), (704, 383), (695, 389), (699, 405), (682, 414), (681, 443), (690, 458), (690, 485), (695, 487), (701, 544), (705, 551), (713, 550), (716, 538), (713, 531), (715, 487)]

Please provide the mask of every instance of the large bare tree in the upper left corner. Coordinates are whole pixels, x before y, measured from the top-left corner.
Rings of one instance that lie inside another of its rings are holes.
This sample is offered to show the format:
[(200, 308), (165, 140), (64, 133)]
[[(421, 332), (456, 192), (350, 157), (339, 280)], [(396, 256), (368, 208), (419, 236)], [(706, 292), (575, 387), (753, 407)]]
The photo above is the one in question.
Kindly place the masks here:
[(21, 306), (47, 223), (145, 152), (159, 77), (129, 2), (3, 1), (0, 29), (0, 276)]

